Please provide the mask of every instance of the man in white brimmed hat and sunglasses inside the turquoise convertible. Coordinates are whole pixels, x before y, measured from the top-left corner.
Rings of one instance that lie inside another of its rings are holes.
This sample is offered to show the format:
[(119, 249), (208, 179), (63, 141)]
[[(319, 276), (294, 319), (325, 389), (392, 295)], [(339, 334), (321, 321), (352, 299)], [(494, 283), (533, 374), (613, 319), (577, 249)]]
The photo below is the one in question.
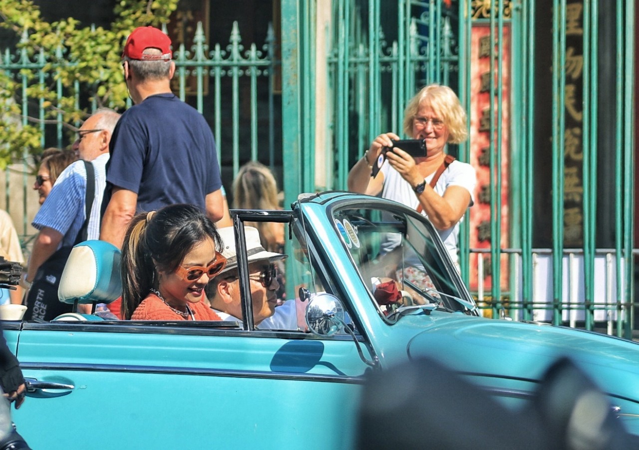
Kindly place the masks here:
[[(297, 329), (295, 301), (287, 301), (277, 306), (275, 292), (279, 288), (275, 262), (287, 255), (266, 251), (259, 241), (259, 231), (254, 227), (244, 227), (247, 260), (249, 262), (250, 296), (253, 304), (253, 323), (259, 329)], [(206, 296), (211, 307), (222, 320), (238, 320), (242, 324), (242, 297), (235, 250), (233, 227), (218, 230), (224, 242), (222, 255), (226, 266), (206, 286)]]

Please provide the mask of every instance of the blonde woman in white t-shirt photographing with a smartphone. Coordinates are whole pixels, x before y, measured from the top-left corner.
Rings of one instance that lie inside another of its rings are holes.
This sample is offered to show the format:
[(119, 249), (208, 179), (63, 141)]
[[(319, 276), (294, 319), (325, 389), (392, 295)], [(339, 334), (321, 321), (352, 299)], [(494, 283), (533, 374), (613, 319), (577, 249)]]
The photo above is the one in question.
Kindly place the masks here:
[[(466, 112), (459, 98), (447, 86), (429, 84), (408, 103), (404, 111), (404, 133), (424, 140), (426, 151), (411, 156), (401, 147), (395, 133), (382, 133), (348, 174), (348, 189), (396, 200), (426, 215), (435, 226), (450, 257), (458, 264), (459, 223), (473, 205), (477, 184), (475, 169), (446, 154), (446, 144), (466, 140)], [(392, 151), (384, 151), (392, 147)], [(385, 160), (382, 154), (385, 153)], [(374, 165), (381, 166), (372, 176)], [(436, 183), (431, 183), (433, 181)], [(431, 184), (433, 184), (431, 186)], [(399, 244), (392, 237), (383, 243), (382, 254)]]

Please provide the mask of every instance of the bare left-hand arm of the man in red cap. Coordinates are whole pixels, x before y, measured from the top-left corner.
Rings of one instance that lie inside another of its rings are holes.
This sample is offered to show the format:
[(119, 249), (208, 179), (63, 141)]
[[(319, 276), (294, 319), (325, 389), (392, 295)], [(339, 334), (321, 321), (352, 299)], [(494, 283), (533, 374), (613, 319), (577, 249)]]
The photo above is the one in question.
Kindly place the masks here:
[(135, 216), (135, 206), (137, 206), (137, 193), (114, 187), (111, 200), (102, 218), (100, 241), (107, 241), (122, 248), (128, 223)]

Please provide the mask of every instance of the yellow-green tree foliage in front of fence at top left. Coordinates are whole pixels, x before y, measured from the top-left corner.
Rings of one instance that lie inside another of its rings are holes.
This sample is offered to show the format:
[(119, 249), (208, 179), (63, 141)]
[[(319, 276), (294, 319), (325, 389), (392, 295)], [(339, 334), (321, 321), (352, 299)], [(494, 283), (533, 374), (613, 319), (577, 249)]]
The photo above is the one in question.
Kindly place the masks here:
[(120, 0), (105, 29), (73, 17), (47, 22), (32, 1), (0, 0), (0, 26), (20, 36), (18, 59), (0, 61), (0, 167), (42, 151), (43, 123), (75, 131), (90, 109), (79, 107), (80, 94), (96, 107), (125, 107), (123, 44), (135, 27), (166, 24), (178, 1)]

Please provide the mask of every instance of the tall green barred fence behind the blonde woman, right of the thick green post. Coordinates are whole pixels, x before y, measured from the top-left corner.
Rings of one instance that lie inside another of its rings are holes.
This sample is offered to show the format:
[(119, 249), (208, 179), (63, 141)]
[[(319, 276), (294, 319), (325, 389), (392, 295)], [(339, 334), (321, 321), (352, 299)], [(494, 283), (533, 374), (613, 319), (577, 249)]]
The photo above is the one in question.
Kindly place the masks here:
[[(419, 87), (449, 84), (471, 122), (470, 142), (449, 152), (486, 175), (460, 249), (463, 278), (486, 314), (631, 336), (633, 2), (336, 1), (334, 8), (326, 126), (335, 154), (323, 186), (346, 188), (373, 137), (401, 130), (403, 107)], [(484, 71), (477, 46), (486, 52)], [(487, 144), (478, 149), (482, 136)], [(488, 218), (478, 224), (482, 208)]]

